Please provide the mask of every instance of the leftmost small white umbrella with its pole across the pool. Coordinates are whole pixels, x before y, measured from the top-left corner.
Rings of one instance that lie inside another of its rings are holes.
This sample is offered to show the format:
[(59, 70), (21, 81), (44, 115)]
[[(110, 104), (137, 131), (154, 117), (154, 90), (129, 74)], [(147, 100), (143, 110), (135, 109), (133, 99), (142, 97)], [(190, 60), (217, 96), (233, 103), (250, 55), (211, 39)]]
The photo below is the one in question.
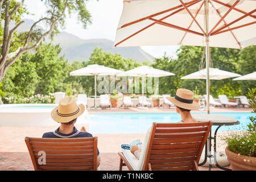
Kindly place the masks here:
[(92, 64), (88, 65), (85, 68), (77, 69), (75, 71), (70, 72), (71, 76), (94, 76), (94, 109), (100, 109), (96, 106), (96, 96), (97, 96), (97, 75), (116, 75), (117, 73), (122, 73), (118, 69), (105, 67), (104, 65)]

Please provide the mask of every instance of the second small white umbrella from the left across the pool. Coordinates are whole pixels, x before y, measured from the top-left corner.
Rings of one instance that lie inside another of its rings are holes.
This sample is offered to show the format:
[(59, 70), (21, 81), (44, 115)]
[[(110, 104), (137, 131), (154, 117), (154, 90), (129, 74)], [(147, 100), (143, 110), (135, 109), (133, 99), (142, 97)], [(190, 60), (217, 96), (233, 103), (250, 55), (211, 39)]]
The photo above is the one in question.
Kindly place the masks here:
[[(142, 77), (142, 95), (144, 94), (144, 77), (163, 77), (163, 76), (172, 76), (174, 73), (163, 71), (161, 69), (156, 69), (148, 67), (146, 65), (130, 69), (129, 71), (118, 73), (117, 76), (138, 76)], [(140, 107), (140, 109), (146, 109), (147, 107)]]

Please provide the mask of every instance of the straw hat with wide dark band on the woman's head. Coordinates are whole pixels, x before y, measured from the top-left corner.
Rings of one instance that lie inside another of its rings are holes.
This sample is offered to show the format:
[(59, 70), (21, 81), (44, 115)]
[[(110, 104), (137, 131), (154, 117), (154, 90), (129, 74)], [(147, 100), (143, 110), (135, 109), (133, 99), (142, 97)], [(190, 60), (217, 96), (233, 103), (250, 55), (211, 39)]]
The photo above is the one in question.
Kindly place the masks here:
[(199, 109), (199, 104), (193, 101), (194, 93), (188, 89), (177, 89), (174, 97), (166, 97), (174, 105), (188, 110)]

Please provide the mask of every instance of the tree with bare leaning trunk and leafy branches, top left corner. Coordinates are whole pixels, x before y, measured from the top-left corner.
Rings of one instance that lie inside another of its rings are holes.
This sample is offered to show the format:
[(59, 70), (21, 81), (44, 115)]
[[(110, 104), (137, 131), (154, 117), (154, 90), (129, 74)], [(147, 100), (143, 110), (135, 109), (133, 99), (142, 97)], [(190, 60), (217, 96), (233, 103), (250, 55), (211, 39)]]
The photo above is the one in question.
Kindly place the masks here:
[[(43, 0), (42, 0), (43, 1)], [(7, 69), (14, 64), (19, 57), (28, 51), (31, 51), (39, 46), (42, 40), (47, 36), (55, 35), (59, 32), (60, 27), (64, 27), (66, 15), (76, 13), (79, 22), (86, 28), (88, 23), (91, 23), (90, 14), (86, 10), (84, 0), (44, 0), (47, 7), (47, 11), (42, 18), (37, 20), (30, 27), (30, 31), (22, 32), (19, 35), (15, 35), (16, 30), (24, 20), (20, 17), (28, 13), (24, 0), (21, 2), (15, 0), (0, 0), (0, 32), (1, 37), (1, 57), (0, 57), (0, 82)], [(2, 27), (2, 20), (5, 21)], [(15, 27), (9, 30), (9, 24), (11, 21), (15, 22)], [(44, 23), (47, 30), (40, 30), (36, 28), (38, 23)], [(17, 45), (17, 43), (19, 43)]]

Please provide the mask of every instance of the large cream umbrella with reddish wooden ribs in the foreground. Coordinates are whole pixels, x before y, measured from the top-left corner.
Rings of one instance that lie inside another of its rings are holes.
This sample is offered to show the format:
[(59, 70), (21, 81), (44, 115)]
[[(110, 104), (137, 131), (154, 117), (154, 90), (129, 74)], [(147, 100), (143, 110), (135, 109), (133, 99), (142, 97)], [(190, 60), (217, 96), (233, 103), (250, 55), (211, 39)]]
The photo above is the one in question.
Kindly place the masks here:
[(209, 47), (255, 44), (255, 7), (250, 0), (123, 1), (114, 46), (205, 46), (209, 114)]

